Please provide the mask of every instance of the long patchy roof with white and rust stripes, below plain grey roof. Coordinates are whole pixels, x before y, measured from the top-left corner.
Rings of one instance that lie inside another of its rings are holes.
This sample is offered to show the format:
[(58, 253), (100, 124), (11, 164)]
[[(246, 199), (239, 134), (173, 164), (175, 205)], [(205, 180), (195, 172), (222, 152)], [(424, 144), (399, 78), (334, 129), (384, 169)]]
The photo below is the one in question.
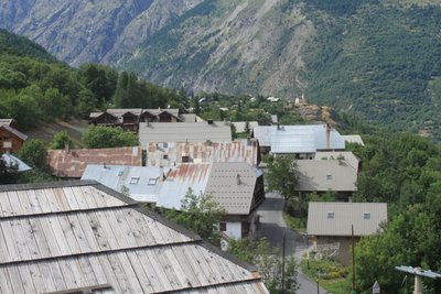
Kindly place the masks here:
[(189, 163), (202, 162), (247, 162), (259, 163), (257, 140), (236, 140), (227, 142), (149, 142), (147, 145), (147, 166), (174, 166), (187, 156)]

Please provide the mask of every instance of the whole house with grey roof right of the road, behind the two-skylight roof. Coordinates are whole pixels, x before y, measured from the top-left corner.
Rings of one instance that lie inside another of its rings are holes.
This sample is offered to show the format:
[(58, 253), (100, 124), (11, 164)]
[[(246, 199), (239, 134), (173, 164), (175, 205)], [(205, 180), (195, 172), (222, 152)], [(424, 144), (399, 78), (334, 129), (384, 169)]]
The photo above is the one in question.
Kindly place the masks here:
[(298, 160), (297, 166), (300, 194), (334, 192), (338, 200), (348, 202), (357, 190), (361, 162), (352, 152), (320, 151), (312, 160)]

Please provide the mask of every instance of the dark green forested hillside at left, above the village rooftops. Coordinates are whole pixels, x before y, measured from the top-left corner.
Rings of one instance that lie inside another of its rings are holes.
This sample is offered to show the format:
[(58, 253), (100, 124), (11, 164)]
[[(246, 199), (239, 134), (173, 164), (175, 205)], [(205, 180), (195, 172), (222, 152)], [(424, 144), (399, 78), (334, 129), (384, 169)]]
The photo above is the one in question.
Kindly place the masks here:
[(4, 30), (0, 31), (0, 117), (15, 119), (24, 130), (108, 107), (180, 107), (185, 98), (182, 91), (108, 66), (85, 64), (74, 69)]

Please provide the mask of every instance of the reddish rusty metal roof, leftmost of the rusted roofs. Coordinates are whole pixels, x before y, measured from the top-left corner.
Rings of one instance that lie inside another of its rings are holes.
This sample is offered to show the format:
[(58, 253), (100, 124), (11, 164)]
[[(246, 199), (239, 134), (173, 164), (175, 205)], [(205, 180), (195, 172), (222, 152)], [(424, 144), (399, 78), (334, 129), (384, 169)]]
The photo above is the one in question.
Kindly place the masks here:
[(82, 177), (87, 164), (142, 165), (140, 146), (49, 150), (47, 164), (60, 177)]

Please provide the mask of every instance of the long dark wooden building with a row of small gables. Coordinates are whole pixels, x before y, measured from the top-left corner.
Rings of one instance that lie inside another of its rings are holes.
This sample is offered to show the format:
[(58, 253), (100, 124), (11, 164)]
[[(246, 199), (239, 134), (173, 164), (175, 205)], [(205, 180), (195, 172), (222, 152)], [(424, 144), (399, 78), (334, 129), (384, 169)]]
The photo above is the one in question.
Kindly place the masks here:
[(179, 109), (112, 108), (105, 112), (92, 112), (89, 124), (121, 127), (137, 132), (140, 122), (196, 122), (195, 115), (183, 115)]

